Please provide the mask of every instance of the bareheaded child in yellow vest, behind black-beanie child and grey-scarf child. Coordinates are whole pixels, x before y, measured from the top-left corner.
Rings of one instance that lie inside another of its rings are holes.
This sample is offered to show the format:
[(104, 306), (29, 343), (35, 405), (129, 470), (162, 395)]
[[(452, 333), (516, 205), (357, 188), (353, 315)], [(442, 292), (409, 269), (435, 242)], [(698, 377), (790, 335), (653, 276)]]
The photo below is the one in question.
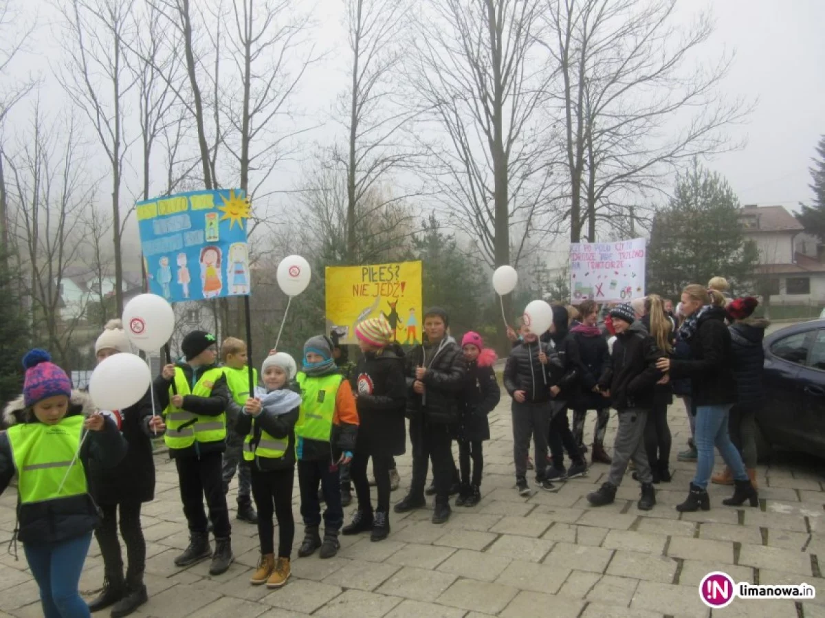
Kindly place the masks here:
[(238, 512), (239, 520), (248, 524), (257, 524), (257, 514), (252, 508), (252, 480), (249, 478), (249, 468), (238, 464), (243, 459), (243, 434), (235, 431), (238, 413), (234, 410), (243, 408), (252, 395), (249, 394), (249, 373), (252, 372), (252, 384), (257, 384), (257, 371), (247, 367), (247, 344), (241, 339), (227, 337), (220, 347), (221, 360), (224, 361), (224, 375), (232, 396), (231, 405), (227, 409), (227, 440), (224, 453), (224, 493), (229, 493), (229, 484), (235, 470), (238, 470)]

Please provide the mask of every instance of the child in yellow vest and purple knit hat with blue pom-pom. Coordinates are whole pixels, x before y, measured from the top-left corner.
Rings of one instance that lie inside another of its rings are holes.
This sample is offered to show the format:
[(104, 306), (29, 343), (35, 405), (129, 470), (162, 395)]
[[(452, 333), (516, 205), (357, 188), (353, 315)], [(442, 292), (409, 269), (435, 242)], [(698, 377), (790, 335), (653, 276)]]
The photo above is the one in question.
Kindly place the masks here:
[(0, 492), (16, 472), (16, 538), (40, 587), (43, 616), (84, 618), (91, 613), (78, 583), (100, 523), (88, 465), (118, 465), (126, 442), (114, 420), (77, 403), (82, 394), (73, 396), (68, 375), (48, 352), (30, 351), (23, 366), (25, 408), (21, 414), (7, 408), (7, 422), (16, 424), (0, 434)]

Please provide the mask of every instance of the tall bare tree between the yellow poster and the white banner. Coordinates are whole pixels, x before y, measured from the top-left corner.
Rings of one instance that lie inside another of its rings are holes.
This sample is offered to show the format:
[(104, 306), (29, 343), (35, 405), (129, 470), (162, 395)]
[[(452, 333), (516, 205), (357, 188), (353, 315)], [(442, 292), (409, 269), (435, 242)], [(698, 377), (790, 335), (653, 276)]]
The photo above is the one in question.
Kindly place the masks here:
[(549, 207), (549, 127), (540, 117), (549, 75), (535, 62), (541, 7), (429, 0), (414, 18), (411, 97), (446, 134), (443, 148), (430, 148), (431, 178), (491, 266), (518, 264)]

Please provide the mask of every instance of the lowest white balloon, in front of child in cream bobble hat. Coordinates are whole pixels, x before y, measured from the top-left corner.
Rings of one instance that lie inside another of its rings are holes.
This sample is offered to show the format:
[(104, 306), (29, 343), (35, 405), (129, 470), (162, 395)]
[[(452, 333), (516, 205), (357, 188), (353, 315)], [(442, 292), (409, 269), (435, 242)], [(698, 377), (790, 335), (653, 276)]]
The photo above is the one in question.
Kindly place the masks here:
[(92, 372), (89, 394), (101, 410), (123, 410), (138, 403), (149, 389), (152, 373), (140, 356), (109, 356)]

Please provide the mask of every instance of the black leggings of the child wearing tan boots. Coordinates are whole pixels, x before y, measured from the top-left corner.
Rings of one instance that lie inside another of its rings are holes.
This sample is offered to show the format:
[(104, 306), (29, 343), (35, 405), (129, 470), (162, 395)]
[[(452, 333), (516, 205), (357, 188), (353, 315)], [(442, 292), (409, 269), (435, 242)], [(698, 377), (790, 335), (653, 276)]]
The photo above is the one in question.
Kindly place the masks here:
[(295, 539), (295, 518), (292, 517), (292, 486), (295, 468), (262, 472), (252, 468), (252, 498), (258, 510), (258, 536), (261, 554), (275, 553), (275, 526), (278, 519), (278, 557), (289, 558)]

